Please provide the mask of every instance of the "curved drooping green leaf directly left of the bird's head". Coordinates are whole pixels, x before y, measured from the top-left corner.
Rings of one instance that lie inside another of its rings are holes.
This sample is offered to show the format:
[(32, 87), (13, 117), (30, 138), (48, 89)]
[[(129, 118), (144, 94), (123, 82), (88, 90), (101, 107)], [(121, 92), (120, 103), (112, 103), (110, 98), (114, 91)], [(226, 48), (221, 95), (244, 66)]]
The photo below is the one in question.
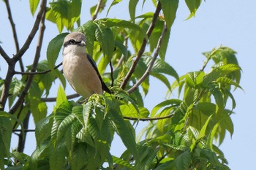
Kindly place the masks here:
[(47, 60), (50, 66), (50, 69), (53, 69), (56, 63), (56, 60), (59, 55), (59, 51), (61, 50), (62, 44), (64, 42), (65, 36), (69, 33), (61, 33), (52, 40), (50, 40), (49, 45), (47, 47)]

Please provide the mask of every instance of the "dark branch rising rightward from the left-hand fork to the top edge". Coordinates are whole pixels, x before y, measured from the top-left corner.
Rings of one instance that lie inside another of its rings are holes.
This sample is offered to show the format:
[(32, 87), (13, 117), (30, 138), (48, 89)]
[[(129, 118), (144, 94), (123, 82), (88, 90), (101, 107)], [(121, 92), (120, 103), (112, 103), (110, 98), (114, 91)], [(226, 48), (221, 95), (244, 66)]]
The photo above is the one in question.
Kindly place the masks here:
[(32, 40), (34, 39), (35, 34), (37, 33), (37, 30), (39, 29), (40, 21), (42, 20), (42, 15), (45, 12), (46, 8), (46, 0), (42, 0), (39, 8), (39, 12), (37, 13), (37, 19), (34, 21), (34, 26), (31, 29), (31, 32), (26, 39), (26, 42), (24, 43), (23, 47), (20, 48), (18, 53), (14, 55), (14, 60), (19, 61), (20, 58), (23, 56), (23, 54), (26, 52), (26, 50), (29, 49), (29, 45), (31, 44)]

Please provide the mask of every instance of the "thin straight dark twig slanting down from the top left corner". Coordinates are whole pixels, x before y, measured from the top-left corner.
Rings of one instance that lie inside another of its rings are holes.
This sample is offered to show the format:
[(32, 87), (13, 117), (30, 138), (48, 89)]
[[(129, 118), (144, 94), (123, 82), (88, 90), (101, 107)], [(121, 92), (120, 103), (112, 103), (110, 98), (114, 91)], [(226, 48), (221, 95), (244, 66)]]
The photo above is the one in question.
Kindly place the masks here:
[[(19, 47), (19, 43), (18, 43), (18, 36), (17, 36), (16, 28), (15, 28), (15, 23), (12, 19), (12, 12), (11, 12), (11, 8), (10, 8), (9, 0), (5, 0), (5, 4), (6, 4), (6, 7), (7, 7), (8, 18), (10, 20), (10, 24), (11, 24), (11, 27), (12, 27), (12, 34), (13, 34), (13, 38), (14, 38), (14, 42), (15, 42), (16, 53), (18, 53), (18, 51), (20, 50), (20, 47)], [(24, 66), (23, 66), (23, 62), (22, 62), (21, 58), (19, 60), (19, 63), (20, 63), (21, 72), (24, 72)]]

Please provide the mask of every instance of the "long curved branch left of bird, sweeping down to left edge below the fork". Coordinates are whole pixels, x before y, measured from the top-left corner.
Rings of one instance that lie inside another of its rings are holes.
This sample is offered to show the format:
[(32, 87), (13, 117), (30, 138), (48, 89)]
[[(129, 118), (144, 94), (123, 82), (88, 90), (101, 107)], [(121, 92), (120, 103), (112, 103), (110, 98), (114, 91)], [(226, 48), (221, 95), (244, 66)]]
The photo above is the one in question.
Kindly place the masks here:
[[(46, 3), (45, 3), (45, 6), (43, 7), (44, 12), (43, 12), (43, 15), (42, 15), (42, 20), (41, 20), (41, 27), (40, 27), (40, 31), (39, 31), (39, 39), (38, 39), (38, 42), (37, 42), (37, 50), (36, 50), (36, 53), (35, 53), (35, 56), (34, 56), (34, 62), (33, 62), (32, 68), (31, 68), (31, 72), (35, 72), (37, 70), (37, 64), (38, 64), (39, 58), (40, 58), (40, 53), (41, 53), (41, 48), (42, 48), (42, 39), (43, 39), (44, 33), (45, 33), (45, 7), (46, 7)], [(33, 82), (33, 78), (34, 78), (33, 74), (29, 75), (29, 78), (26, 82), (25, 88), (23, 89), (22, 93), (20, 94), (20, 97), (18, 98), (18, 101), (16, 101), (16, 103), (14, 104), (12, 109), (10, 109), (11, 114), (13, 114), (18, 109), (20, 104), (23, 103), (23, 100), (24, 100), (26, 94), (29, 91), (30, 85)]]

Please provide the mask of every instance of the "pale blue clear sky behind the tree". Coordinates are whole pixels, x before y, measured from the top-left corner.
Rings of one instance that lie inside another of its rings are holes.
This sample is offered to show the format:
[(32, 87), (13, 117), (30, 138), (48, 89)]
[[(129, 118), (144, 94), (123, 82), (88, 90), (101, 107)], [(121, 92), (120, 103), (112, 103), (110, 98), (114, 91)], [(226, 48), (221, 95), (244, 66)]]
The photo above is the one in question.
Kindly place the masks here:
[[(90, 20), (89, 7), (97, 4), (97, 1), (83, 1), (81, 23)], [(29, 11), (29, 2), (25, 0), (10, 1), (13, 18), (18, 31), (20, 46), (23, 45), (34, 19)], [(110, 2), (107, 4), (109, 7)], [(108, 18), (129, 19), (127, 1), (122, 1), (114, 6), (108, 15)], [(238, 169), (255, 169), (256, 153), (256, 126), (255, 126), (255, 105), (256, 88), (255, 88), (255, 57), (256, 57), (256, 1), (238, 1), (238, 0), (208, 0), (202, 1), (200, 8), (197, 10), (195, 18), (185, 20), (189, 16), (184, 0), (179, 2), (176, 20), (173, 23), (170, 34), (170, 42), (167, 48), (166, 61), (173, 66), (179, 76), (187, 72), (197, 71), (203, 66), (205, 61), (203, 52), (212, 50), (219, 45), (231, 47), (237, 52), (238, 62), (243, 69), (241, 75), (242, 90), (236, 90), (233, 94), (236, 98), (236, 112), (232, 115), (235, 131), (232, 139), (227, 134), (225, 141), (221, 145), (225, 153), (229, 167), (233, 170)], [(136, 15), (145, 12), (154, 12), (151, 1), (146, 1), (141, 9), (141, 1), (138, 4)], [(105, 18), (105, 12), (98, 16)], [(46, 49), (48, 42), (59, 34), (57, 27), (46, 21), (46, 31), (44, 44), (42, 46), (42, 59), (46, 58)], [(23, 56), (25, 65), (31, 64), (34, 58), (34, 49), (37, 44), (37, 36), (32, 42), (31, 48)], [(7, 18), (7, 10), (3, 1), (0, 1), (0, 42), (1, 46), (8, 55), (15, 54), (15, 46), (12, 38), (10, 23)], [(59, 55), (58, 62), (61, 62)], [(5, 77), (7, 67), (3, 58), (0, 57), (0, 77)], [(148, 96), (145, 98), (145, 106), (149, 110), (156, 104), (165, 100), (166, 88), (162, 82), (151, 79), (151, 86)], [(66, 93), (72, 94), (74, 91), (67, 85)], [(56, 88), (59, 82), (56, 83)], [(50, 96), (56, 96), (56, 90), (50, 93)], [(174, 93), (171, 97), (177, 98)], [(153, 99), (154, 98), (154, 99)], [(49, 107), (52, 107), (50, 104)], [(49, 109), (50, 110), (50, 109)], [(49, 112), (49, 111), (48, 111)], [(31, 123), (32, 125), (33, 123)], [(31, 126), (29, 128), (34, 128)], [(138, 130), (146, 125), (139, 123)], [(13, 135), (12, 147), (17, 146), (17, 138)], [(119, 139), (112, 144), (114, 155), (120, 155), (124, 150), (124, 145)], [(26, 142), (25, 152), (31, 155), (35, 149), (34, 134), (29, 134)]]

